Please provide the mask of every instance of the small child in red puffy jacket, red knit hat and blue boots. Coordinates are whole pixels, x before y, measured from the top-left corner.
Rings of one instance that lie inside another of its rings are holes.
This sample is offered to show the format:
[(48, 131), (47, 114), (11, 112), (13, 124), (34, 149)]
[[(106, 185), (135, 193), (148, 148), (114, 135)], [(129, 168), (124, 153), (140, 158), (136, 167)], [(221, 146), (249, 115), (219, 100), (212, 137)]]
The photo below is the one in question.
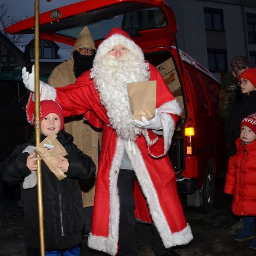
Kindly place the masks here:
[[(237, 152), (230, 157), (224, 192), (234, 196), (232, 211), (243, 218), (244, 228), (233, 236), (236, 241), (255, 238), (256, 216), (256, 113), (241, 122)], [(249, 247), (256, 250), (256, 239)]]

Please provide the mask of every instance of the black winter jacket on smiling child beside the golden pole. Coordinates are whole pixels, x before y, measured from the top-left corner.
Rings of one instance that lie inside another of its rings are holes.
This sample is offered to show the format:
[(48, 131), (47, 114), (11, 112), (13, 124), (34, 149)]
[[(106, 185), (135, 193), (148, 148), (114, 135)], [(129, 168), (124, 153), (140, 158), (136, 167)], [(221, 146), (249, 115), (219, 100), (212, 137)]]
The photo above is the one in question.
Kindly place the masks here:
[[(44, 140), (42, 135), (41, 140)], [(58, 180), (42, 161), (42, 186), (44, 206), (44, 234), (46, 250), (71, 248), (81, 241), (83, 227), (82, 199), (78, 179), (87, 180), (95, 174), (93, 160), (73, 144), (73, 136), (60, 131), (58, 141), (68, 155), (67, 178)], [(12, 155), (0, 165), (0, 177), (9, 185), (21, 182), (26, 245), (38, 249), (37, 186), (23, 189), (22, 183), (31, 171), (26, 166), (28, 153), (21, 153), (27, 146), (35, 146), (33, 134), (28, 143), (17, 146)]]

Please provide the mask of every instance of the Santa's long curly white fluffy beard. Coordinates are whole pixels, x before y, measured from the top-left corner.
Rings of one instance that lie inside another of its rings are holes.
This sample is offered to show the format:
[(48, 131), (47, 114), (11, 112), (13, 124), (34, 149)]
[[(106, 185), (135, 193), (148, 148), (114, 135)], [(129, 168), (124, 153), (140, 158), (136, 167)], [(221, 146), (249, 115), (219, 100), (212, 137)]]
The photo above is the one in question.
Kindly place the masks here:
[(109, 54), (93, 62), (90, 76), (94, 79), (102, 105), (107, 110), (110, 125), (117, 136), (135, 141), (142, 129), (135, 126), (128, 99), (127, 84), (148, 81), (148, 63), (134, 52), (115, 58)]

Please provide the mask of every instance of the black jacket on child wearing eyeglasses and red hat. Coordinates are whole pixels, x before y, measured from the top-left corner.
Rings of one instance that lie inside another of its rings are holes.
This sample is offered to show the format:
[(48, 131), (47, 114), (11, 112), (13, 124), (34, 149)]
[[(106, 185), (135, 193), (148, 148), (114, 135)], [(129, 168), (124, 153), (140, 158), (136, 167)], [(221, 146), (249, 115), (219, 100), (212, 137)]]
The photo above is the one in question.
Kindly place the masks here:
[(244, 117), (256, 112), (256, 90), (248, 94), (241, 94), (239, 102), (233, 102), (225, 128), (225, 138), (227, 143), (227, 155), (236, 154), (235, 141), (240, 136), (240, 125)]

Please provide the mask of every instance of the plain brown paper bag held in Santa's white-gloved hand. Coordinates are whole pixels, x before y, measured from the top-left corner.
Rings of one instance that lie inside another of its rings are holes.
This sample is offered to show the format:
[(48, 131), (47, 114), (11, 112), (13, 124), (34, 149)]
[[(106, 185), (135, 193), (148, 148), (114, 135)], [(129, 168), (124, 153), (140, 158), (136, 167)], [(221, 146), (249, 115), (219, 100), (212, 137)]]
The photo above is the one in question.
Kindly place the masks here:
[(154, 118), (156, 112), (157, 81), (144, 81), (127, 84), (133, 119), (142, 121)]

